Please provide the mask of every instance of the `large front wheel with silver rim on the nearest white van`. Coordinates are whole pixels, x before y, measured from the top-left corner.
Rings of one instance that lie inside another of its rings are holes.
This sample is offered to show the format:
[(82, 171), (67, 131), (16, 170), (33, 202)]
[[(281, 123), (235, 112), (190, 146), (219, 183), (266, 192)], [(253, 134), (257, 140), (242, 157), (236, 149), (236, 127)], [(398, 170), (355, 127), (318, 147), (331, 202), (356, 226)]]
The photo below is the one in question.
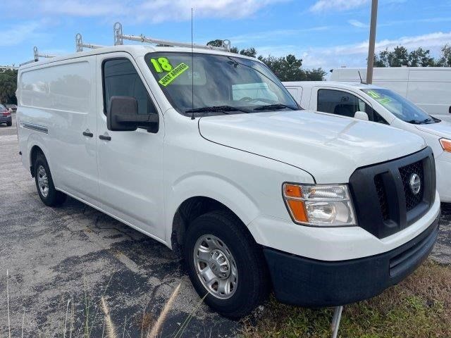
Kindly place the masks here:
[(214, 211), (196, 218), (187, 229), (184, 250), (194, 289), (218, 313), (241, 318), (266, 299), (263, 253), (235, 215)]

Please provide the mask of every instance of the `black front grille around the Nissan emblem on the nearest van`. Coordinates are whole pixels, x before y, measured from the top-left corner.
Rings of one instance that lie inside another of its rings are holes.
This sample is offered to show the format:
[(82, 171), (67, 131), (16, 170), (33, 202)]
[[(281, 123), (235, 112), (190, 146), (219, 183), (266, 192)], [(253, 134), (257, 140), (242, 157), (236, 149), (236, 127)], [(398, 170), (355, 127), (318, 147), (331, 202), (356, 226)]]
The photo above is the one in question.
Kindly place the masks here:
[[(410, 186), (413, 174), (420, 179), (418, 194)], [(358, 225), (374, 236), (384, 238), (409, 227), (435, 199), (432, 149), (358, 168), (350, 177), (350, 191)]]

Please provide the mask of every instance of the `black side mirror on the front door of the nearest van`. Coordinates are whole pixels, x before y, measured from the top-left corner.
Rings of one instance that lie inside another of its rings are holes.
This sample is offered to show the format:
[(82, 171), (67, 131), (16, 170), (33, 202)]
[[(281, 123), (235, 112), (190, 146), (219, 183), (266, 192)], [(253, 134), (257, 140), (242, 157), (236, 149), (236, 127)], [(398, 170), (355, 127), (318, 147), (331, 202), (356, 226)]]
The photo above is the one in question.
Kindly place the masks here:
[(131, 96), (111, 96), (106, 111), (106, 127), (116, 132), (130, 132), (138, 127), (148, 132), (157, 132), (159, 117), (157, 114), (139, 115), (138, 103)]

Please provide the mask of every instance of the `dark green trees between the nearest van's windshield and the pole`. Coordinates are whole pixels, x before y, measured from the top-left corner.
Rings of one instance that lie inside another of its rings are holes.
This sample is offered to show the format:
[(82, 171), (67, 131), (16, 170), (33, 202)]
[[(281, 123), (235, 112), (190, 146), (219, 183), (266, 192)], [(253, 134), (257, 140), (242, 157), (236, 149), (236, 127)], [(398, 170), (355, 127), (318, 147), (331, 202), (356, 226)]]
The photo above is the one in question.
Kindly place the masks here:
[[(207, 43), (209, 46), (220, 47), (223, 44), (223, 40), (216, 39)], [(230, 49), (232, 53), (250, 56), (252, 58), (258, 58), (265, 63), (269, 69), (279, 78), (280, 81), (322, 81), (326, 76), (326, 71), (323, 68), (303, 69), (302, 58), (297, 58), (292, 54), (287, 56), (281, 56), (279, 58), (275, 56), (258, 56), (257, 50), (254, 47), (237, 49), (232, 47)]]

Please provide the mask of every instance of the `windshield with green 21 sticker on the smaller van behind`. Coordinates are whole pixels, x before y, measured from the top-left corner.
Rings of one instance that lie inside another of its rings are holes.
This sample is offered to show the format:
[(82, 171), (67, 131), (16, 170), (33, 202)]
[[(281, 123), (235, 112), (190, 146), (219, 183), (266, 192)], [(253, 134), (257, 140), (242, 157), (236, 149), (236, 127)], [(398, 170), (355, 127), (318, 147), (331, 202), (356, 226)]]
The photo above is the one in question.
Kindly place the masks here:
[(397, 118), (400, 118), (407, 123), (422, 125), (438, 122), (438, 120), (432, 118), (431, 115), (428, 115), (425, 111), (421, 110), (421, 108), (409, 100), (404, 99), (401, 95), (392, 92), (390, 89), (372, 88), (362, 89), (362, 91), (378, 101), (379, 104), (384, 106)]

